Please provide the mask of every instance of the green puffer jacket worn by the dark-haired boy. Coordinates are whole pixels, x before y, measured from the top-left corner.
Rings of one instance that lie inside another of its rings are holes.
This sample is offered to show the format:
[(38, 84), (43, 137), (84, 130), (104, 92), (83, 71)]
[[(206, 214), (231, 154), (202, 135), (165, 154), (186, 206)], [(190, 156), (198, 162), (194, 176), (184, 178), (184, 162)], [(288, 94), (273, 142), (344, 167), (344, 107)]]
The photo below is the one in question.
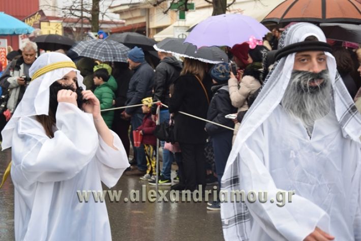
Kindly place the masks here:
[[(100, 109), (110, 109), (113, 107), (113, 100), (115, 99), (114, 91), (117, 89), (117, 84), (113, 76), (110, 76), (108, 82), (99, 85), (94, 91), (94, 95), (100, 101)], [(103, 111), (102, 117), (109, 127), (111, 128), (114, 119), (114, 110)]]

